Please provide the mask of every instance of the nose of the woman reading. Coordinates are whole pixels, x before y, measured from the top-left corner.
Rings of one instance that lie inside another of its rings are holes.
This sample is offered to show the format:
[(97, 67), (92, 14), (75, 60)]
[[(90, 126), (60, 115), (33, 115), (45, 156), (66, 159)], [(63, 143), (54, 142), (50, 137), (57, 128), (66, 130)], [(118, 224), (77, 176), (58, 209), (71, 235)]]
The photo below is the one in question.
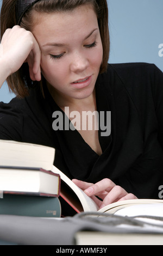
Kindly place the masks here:
[(71, 58), (71, 71), (82, 72), (89, 66), (89, 60), (85, 54), (75, 52)]

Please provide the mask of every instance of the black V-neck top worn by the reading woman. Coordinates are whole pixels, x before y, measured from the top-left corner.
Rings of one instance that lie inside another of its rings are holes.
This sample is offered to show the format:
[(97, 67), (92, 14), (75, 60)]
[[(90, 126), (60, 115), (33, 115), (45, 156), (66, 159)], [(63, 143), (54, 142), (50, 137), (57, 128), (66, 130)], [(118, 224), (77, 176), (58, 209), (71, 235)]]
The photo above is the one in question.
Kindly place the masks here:
[[(0, 138), (48, 145), (67, 176), (97, 182), (109, 178), (138, 198), (158, 198), (163, 185), (163, 74), (153, 64), (108, 65), (96, 82), (97, 111), (111, 111), (111, 135), (98, 156), (77, 130), (54, 131), (61, 111), (47, 88), (0, 103)], [(62, 112), (64, 114), (64, 112)], [(100, 126), (100, 125), (99, 125)]]

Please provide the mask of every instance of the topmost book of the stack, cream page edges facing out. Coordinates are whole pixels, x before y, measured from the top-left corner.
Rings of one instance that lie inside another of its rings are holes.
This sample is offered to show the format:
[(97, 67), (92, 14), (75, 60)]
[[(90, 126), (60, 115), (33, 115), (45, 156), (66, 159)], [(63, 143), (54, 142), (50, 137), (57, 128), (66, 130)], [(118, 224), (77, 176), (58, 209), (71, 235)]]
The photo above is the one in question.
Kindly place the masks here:
[(0, 139), (1, 166), (43, 168), (53, 167), (55, 149), (44, 145)]

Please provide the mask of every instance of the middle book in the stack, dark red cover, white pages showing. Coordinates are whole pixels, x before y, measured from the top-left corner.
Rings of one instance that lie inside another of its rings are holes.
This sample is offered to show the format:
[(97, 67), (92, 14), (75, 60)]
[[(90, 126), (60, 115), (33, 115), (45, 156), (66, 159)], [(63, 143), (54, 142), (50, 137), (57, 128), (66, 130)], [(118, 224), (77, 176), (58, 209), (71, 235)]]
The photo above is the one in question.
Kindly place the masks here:
[(60, 175), (42, 168), (0, 167), (0, 191), (58, 197)]

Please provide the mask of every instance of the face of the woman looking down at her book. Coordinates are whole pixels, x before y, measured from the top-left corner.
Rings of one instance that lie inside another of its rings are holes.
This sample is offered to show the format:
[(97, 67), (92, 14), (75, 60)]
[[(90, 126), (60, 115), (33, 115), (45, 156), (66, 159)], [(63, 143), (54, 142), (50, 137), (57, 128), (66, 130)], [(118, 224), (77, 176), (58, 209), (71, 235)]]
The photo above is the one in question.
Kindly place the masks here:
[(103, 58), (97, 16), (91, 5), (68, 12), (36, 14), (34, 34), (41, 70), (53, 94), (85, 99), (95, 87)]

